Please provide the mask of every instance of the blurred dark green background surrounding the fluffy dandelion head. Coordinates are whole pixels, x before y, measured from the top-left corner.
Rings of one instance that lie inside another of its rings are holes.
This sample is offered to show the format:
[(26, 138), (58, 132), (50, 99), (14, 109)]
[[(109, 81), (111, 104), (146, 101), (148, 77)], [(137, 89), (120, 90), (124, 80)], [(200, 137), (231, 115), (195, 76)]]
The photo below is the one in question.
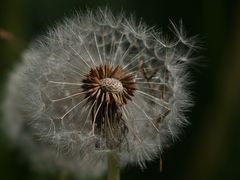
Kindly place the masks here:
[[(0, 29), (14, 36), (0, 37), (1, 92), (29, 42), (75, 10), (105, 5), (113, 11), (134, 13), (166, 31), (169, 19), (182, 19), (187, 34), (199, 34), (203, 47), (192, 68), (195, 106), (188, 115), (191, 125), (180, 141), (164, 152), (163, 172), (159, 173), (156, 159), (144, 171), (127, 167), (122, 179), (240, 179), (240, 1), (1, 0)], [(59, 179), (32, 170), (20, 154), (0, 132), (0, 179)]]

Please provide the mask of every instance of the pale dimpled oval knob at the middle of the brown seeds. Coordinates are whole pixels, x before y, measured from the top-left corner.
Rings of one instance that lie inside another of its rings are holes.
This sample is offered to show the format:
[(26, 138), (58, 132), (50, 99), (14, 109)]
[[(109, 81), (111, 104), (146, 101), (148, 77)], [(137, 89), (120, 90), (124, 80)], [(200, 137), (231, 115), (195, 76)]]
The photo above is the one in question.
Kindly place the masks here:
[(121, 81), (115, 78), (104, 78), (100, 80), (100, 86), (103, 91), (111, 93), (122, 93), (123, 85)]

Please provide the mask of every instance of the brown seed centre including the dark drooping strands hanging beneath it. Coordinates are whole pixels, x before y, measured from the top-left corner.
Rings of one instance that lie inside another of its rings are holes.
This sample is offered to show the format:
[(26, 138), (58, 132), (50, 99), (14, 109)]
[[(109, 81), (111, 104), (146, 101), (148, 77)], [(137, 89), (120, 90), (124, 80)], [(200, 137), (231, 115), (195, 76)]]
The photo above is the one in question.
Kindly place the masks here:
[[(91, 132), (106, 138), (108, 148), (120, 147), (120, 142), (128, 131), (121, 107), (127, 105), (134, 96), (134, 76), (120, 66), (100, 65), (90, 69), (82, 83), (85, 99), (90, 104)], [(95, 145), (99, 148), (98, 143)]]

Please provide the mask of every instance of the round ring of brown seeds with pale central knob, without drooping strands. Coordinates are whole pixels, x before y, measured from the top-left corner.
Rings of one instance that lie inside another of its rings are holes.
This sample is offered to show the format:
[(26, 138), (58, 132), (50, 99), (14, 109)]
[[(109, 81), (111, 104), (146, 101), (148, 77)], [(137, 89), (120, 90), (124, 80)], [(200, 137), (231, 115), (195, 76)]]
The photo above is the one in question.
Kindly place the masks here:
[(112, 112), (112, 109), (117, 111), (119, 107), (126, 105), (128, 100), (132, 100), (136, 90), (134, 77), (119, 66), (114, 68), (101, 65), (91, 69), (82, 82), (85, 98), (103, 108), (104, 113)]

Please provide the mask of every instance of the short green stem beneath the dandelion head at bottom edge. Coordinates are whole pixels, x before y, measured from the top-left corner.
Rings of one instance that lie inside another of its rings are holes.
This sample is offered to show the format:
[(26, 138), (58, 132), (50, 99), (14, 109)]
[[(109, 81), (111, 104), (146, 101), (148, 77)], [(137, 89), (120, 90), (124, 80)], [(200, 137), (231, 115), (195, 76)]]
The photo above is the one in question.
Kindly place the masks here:
[(119, 157), (116, 153), (108, 155), (108, 180), (120, 180)]

